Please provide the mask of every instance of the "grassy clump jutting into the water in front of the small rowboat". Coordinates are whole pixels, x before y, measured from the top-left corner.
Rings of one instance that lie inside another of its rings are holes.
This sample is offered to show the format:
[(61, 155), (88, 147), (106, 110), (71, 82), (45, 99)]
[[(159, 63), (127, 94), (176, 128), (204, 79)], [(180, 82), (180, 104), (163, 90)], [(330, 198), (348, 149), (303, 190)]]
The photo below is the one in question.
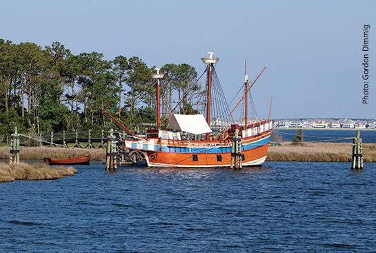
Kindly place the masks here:
[(61, 179), (63, 176), (73, 176), (75, 173), (77, 170), (72, 166), (51, 168), (43, 163), (35, 165), (0, 163), (0, 183), (14, 182), (15, 180)]

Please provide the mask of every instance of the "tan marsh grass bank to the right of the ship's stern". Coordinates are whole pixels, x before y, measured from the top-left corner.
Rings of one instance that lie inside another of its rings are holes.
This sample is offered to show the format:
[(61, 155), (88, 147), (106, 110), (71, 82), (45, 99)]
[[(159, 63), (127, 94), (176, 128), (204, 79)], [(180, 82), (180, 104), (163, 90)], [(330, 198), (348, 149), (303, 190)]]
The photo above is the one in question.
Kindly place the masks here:
[[(304, 143), (271, 146), (266, 161), (336, 161), (350, 162), (353, 143)], [(376, 162), (376, 144), (363, 143), (363, 161)]]

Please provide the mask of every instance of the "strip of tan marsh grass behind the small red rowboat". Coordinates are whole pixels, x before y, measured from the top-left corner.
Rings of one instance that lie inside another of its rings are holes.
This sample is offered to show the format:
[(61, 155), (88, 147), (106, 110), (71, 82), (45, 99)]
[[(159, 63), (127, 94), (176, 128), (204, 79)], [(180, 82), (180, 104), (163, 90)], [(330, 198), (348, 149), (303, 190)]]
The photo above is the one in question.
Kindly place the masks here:
[[(0, 159), (9, 159), (9, 147), (0, 148)], [(46, 148), (46, 147), (21, 147), (19, 150), (20, 160), (40, 160), (43, 157), (65, 159), (90, 154), (91, 159), (101, 161), (106, 158), (105, 149), (77, 149), (77, 148)]]

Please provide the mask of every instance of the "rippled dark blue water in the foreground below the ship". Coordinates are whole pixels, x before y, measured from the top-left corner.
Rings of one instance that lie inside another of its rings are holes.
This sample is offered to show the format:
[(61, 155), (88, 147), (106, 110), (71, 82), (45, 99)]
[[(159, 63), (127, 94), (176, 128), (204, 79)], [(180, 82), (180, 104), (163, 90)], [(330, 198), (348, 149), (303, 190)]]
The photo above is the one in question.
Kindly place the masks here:
[(376, 252), (376, 164), (76, 166), (0, 184), (0, 252)]

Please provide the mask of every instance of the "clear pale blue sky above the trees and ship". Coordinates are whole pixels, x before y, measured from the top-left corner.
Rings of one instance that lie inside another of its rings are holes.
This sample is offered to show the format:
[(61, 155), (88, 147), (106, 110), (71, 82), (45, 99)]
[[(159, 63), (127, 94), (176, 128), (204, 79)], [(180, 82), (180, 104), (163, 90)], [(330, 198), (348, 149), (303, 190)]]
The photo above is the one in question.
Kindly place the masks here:
[(249, 80), (268, 65), (251, 89), (258, 117), (268, 117), (273, 95), (271, 119), (376, 119), (376, 1), (2, 2), (0, 39), (59, 41), (73, 54), (136, 56), (149, 67), (188, 63), (199, 75), (214, 52), (228, 102), (244, 84), (245, 59)]

